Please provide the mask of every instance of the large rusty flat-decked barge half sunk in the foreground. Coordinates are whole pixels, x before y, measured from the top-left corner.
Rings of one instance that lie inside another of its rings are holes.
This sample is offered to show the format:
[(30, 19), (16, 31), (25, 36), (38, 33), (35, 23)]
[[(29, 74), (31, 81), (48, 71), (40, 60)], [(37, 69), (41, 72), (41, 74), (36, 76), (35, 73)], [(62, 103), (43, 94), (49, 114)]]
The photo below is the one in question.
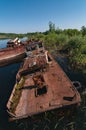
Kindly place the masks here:
[(80, 102), (79, 92), (43, 44), (29, 45), (28, 57), (16, 75), (7, 103), (11, 120), (79, 105)]

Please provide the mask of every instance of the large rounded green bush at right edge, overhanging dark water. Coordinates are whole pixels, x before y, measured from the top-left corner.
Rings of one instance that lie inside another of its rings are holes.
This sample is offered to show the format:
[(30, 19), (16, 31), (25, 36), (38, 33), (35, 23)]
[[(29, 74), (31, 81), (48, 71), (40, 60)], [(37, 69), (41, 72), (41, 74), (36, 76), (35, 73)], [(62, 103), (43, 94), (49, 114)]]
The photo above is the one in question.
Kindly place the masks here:
[(71, 65), (75, 69), (85, 69), (86, 66), (86, 44), (82, 37), (72, 37), (65, 46)]

